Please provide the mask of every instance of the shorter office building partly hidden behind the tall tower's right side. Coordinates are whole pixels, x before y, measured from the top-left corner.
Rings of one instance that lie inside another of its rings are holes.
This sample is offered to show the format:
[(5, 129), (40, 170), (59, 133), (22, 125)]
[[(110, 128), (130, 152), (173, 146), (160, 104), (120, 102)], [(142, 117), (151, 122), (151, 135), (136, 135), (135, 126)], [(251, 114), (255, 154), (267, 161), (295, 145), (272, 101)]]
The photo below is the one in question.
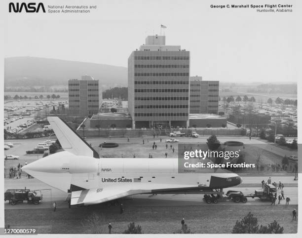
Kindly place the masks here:
[(190, 77), (190, 114), (218, 114), (219, 81)]

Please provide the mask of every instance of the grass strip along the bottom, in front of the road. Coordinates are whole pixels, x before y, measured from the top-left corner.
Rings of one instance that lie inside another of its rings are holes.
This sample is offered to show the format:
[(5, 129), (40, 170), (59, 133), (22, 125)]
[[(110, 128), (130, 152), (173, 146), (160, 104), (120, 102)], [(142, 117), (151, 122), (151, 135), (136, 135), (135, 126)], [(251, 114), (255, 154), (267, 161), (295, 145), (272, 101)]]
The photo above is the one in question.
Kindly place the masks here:
[[(268, 225), (276, 220), (284, 228), (284, 233), (297, 233), (298, 222), (292, 221), (294, 205), (199, 205), (199, 206), (131, 206), (119, 214), (119, 207), (104, 204), (52, 209), (11, 209), (5, 210), (5, 224), (11, 228), (35, 228), (40, 234), (87, 234), (93, 223), (87, 218), (92, 213), (101, 216), (97, 226), (108, 233), (111, 222), (112, 233), (121, 234), (130, 222), (142, 226), (144, 234), (173, 234), (181, 228), (181, 219), (194, 233), (231, 233), (236, 220), (241, 220), (248, 212), (258, 218), (259, 225)], [(297, 212), (298, 213), (298, 212)]]

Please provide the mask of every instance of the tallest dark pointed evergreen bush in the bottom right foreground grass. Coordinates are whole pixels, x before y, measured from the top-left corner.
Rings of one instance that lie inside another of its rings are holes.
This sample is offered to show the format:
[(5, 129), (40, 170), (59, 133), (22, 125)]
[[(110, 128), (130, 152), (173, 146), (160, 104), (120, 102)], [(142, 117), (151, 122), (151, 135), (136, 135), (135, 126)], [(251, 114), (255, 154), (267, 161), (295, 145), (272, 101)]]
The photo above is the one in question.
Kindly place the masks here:
[(249, 212), (240, 222), (237, 220), (233, 227), (233, 234), (255, 234), (259, 231), (258, 219)]

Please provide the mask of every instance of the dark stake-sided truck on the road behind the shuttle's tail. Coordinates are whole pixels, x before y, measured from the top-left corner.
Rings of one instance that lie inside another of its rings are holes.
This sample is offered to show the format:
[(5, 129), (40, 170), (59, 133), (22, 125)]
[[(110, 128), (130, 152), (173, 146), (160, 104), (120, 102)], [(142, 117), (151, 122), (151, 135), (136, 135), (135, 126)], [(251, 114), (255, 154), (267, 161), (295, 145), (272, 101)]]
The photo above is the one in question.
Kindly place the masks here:
[(7, 189), (4, 193), (4, 201), (9, 200), (12, 205), (16, 205), (19, 201), (28, 201), (38, 205), (42, 199), (41, 193), (29, 189)]

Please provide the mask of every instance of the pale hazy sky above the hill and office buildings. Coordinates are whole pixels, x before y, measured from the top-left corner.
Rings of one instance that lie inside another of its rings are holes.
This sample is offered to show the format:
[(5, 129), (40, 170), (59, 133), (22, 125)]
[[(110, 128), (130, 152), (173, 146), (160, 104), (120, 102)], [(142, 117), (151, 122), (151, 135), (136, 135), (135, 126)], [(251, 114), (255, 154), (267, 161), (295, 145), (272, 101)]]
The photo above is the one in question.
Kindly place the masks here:
[(160, 34), (163, 24), (166, 44), (190, 51), (191, 76), (237, 82), (297, 81), (295, 0), (265, 0), (293, 4), (291, 13), (210, 7), (264, 4), (263, 0), (41, 0), (46, 11), (48, 4), (96, 4), (97, 10), (90, 14), (8, 13), (9, 1), (5, 57), (127, 67), (131, 51), (145, 43), (146, 35)]

